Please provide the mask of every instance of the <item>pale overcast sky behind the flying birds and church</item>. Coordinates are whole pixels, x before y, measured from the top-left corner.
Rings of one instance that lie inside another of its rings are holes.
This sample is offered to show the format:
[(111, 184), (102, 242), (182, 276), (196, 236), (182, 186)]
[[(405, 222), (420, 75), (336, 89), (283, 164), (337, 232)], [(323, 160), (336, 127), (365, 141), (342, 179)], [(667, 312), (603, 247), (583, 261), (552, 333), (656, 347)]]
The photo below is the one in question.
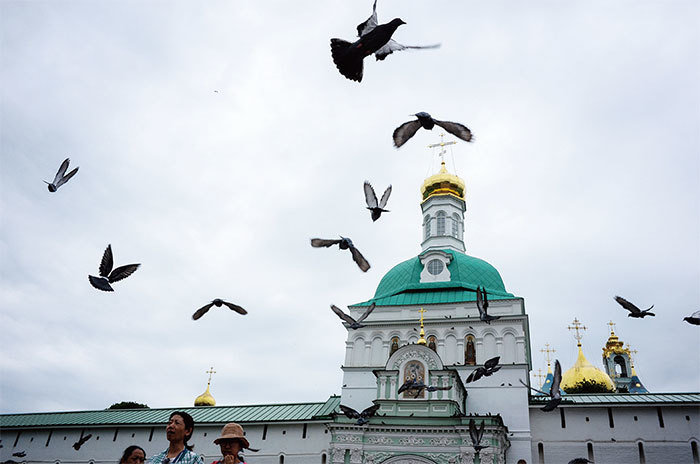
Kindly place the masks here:
[[(0, 1), (0, 412), (325, 401), (346, 330), (420, 252), (428, 111), (466, 124), (467, 254), (525, 299), (533, 368), (602, 368), (606, 323), (652, 392), (700, 391), (700, 4), (378, 2), (405, 51), (342, 77), (366, 1)], [(70, 157), (78, 174), (55, 193)], [(362, 183), (392, 184), (372, 223)], [(309, 246), (350, 236), (372, 264)], [(92, 288), (108, 243), (142, 263)], [(626, 317), (621, 295), (655, 305)], [(213, 298), (249, 310), (190, 316)]]

